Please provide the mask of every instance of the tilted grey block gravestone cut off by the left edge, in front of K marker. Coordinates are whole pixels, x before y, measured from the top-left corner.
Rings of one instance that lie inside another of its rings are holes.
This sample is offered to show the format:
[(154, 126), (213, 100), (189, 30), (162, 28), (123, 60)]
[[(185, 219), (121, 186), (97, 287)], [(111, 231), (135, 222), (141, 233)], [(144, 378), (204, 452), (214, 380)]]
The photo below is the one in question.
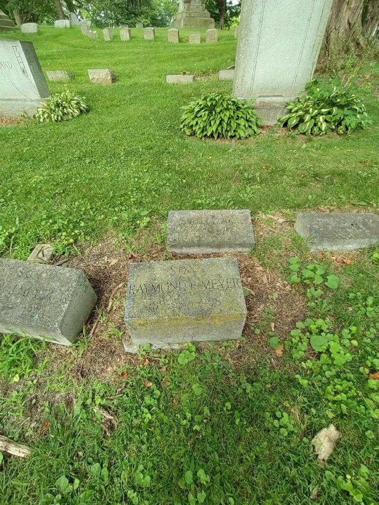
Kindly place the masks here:
[(94, 305), (80, 270), (0, 259), (0, 332), (70, 345)]

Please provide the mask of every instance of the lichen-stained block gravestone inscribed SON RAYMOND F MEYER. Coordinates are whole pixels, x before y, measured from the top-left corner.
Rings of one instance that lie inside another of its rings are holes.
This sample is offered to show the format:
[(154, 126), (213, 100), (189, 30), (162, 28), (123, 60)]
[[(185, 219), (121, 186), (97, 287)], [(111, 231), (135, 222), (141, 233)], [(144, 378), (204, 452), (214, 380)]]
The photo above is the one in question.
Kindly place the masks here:
[(127, 289), (134, 345), (241, 338), (247, 310), (235, 259), (133, 263)]

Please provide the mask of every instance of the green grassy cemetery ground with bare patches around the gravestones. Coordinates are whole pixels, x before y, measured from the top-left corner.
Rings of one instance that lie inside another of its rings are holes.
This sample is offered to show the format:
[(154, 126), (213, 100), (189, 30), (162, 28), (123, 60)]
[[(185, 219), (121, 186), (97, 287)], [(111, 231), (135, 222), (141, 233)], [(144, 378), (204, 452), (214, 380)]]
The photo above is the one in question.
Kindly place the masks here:
[[(70, 348), (2, 337), (0, 434), (32, 452), (0, 462), (0, 503), (378, 503), (379, 253), (310, 254), (293, 231), (299, 209), (376, 211), (377, 82), (364, 95), (373, 125), (350, 136), (198, 141), (178, 132), (180, 107), (230, 92), (216, 74), (233, 64), (232, 33), (199, 46), (141, 33), (17, 34), (44, 71), (75, 72), (91, 111), (0, 127), (0, 255), (53, 242), (99, 306)], [(117, 83), (88, 82), (88, 68), (108, 67)], [(165, 84), (184, 70), (195, 84)], [(168, 258), (169, 210), (204, 208), (256, 216), (256, 249), (236, 255), (249, 289), (243, 339), (126, 356), (129, 263)], [(341, 440), (319, 463), (311, 440), (330, 423)]]

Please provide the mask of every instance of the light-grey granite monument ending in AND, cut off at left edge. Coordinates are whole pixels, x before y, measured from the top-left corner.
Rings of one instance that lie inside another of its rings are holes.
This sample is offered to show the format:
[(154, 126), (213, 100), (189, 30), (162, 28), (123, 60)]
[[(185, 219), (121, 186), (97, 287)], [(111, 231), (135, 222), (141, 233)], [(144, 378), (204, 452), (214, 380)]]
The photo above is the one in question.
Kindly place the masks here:
[(0, 40), (0, 115), (32, 115), (49, 95), (32, 42)]

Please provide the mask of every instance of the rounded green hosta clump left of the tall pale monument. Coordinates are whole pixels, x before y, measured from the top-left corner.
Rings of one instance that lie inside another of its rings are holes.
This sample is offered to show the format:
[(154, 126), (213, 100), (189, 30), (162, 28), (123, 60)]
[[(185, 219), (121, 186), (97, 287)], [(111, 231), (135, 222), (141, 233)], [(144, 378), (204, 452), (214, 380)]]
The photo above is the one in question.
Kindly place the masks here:
[(262, 126), (251, 103), (224, 94), (203, 94), (182, 109), (180, 130), (198, 138), (244, 139), (257, 135)]

